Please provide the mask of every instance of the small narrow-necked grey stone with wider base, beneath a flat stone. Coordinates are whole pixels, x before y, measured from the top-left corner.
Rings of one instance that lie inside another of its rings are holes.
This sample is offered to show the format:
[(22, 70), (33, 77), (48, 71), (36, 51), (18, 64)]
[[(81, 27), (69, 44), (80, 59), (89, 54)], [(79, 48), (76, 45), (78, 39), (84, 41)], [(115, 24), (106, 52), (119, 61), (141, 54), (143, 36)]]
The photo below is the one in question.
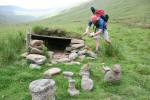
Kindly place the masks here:
[(70, 96), (79, 96), (80, 91), (75, 88), (75, 80), (69, 80), (68, 93)]

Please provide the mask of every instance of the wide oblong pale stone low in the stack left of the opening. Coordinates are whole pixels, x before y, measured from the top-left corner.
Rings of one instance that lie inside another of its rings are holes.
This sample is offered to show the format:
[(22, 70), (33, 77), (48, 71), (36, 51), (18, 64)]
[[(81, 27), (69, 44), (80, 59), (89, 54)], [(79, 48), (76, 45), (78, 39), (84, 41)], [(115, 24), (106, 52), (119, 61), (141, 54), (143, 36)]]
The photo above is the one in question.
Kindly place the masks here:
[(46, 61), (46, 57), (39, 54), (29, 54), (26, 59), (36, 64), (43, 64)]

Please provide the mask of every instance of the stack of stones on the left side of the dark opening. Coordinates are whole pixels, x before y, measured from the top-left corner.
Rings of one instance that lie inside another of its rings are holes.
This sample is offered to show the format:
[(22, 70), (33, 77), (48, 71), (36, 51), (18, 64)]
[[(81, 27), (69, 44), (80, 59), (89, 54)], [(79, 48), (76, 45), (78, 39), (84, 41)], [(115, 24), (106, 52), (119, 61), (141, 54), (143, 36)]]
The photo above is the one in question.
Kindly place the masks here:
[(41, 64), (46, 61), (44, 56), (44, 43), (42, 40), (31, 40), (28, 46), (28, 52), (22, 55), (31, 62), (31, 69), (40, 69)]

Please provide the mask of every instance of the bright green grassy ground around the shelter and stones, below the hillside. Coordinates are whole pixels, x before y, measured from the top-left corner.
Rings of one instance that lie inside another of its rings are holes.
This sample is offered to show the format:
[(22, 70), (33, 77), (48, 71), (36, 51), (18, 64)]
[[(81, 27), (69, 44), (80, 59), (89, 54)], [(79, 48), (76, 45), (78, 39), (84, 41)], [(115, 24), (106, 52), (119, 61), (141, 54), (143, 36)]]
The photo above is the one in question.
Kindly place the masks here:
[[(86, 27), (86, 24), (80, 22), (46, 25), (81, 34)], [(31, 70), (29, 64), (20, 57), (20, 54), (25, 51), (23, 39), (26, 29), (25, 25), (1, 26), (0, 100), (31, 100), (28, 89), (30, 82), (43, 78), (44, 71), (51, 68), (43, 65), (41, 70)], [(53, 65), (63, 71), (74, 72), (76, 87), (80, 90), (79, 97), (70, 97), (67, 93), (67, 80), (64, 79), (62, 73), (56, 75), (53, 79), (57, 86), (57, 100), (150, 100), (150, 30), (110, 24), (109, 32), (113, 48), (101, 39), (102, 51), (96, 60), (85, 59), (81, 65)], [(94, 50), (95, 40), (89, 37), (83, 38)], [(114, 53), (111, 54), (111, 51)], [(79, 71), (81, 66), (88, 62), (92, 66), (91, 78), (94, 80), (94, 89), (91, 92), (84, 92), (80, 86)], [(123, 72), (120, 83), (103, 81), (102, 63), (108, 66), (121, 64)]]

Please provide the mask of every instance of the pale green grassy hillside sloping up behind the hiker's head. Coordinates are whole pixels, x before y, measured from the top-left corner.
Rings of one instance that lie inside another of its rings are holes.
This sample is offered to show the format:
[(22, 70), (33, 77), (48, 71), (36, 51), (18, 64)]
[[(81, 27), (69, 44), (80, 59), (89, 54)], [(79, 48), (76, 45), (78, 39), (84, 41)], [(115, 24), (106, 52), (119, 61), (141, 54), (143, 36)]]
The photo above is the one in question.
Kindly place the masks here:
[(111, 22), (123, 22), (131, 25), (150, 24), (150, 0), (92, 0), (42, 22), (85, 22), (91, 18), (91, 6), (105, 9), (110, 15)]

